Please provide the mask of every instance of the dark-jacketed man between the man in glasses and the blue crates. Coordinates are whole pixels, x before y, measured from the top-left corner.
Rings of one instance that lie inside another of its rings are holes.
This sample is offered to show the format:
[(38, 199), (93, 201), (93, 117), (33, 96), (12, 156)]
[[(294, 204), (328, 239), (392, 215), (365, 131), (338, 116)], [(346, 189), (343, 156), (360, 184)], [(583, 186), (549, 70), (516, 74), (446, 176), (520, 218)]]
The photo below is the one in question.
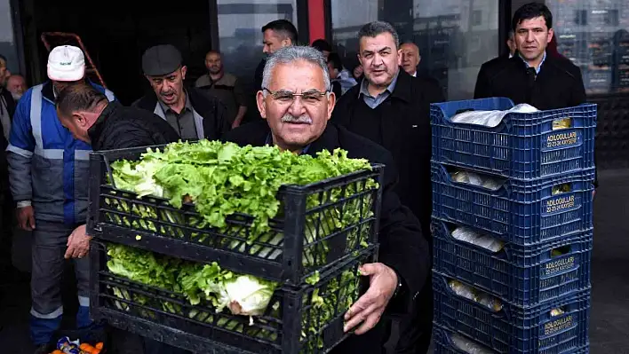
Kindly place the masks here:
[[(429, 242), (432, 214), (430, 104), (442, 102), (438, 84), (412, 77), (400, 64), (400, 41), (393, 26), (371, 22), (358, 33), (362, 83), (334, 108), (332, 122), (384, 146), (400, 170), (395, 191), (421, 223)], [(424, 287), (410, 315), (400, 321), (397, 352), (426, 352), (432, 334), (431, 287)]]

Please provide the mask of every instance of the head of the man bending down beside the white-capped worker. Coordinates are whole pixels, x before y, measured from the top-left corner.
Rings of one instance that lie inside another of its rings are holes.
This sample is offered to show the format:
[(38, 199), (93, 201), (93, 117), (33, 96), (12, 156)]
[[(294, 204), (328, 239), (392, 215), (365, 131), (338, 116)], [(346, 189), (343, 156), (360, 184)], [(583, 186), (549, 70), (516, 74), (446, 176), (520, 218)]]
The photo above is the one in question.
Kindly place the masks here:
[(107, 107), (107, 97), (92, 85), (78, 83), (61, 90), (57, 97), (57, 116), (72, 135), (90, 142), (88, 130)]

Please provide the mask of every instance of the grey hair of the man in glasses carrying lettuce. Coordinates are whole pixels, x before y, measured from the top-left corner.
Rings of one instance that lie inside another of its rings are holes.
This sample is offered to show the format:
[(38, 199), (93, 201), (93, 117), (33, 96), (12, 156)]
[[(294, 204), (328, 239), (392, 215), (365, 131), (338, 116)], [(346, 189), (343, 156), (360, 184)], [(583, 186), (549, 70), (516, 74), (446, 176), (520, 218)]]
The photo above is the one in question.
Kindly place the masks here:
[[(328, 74), (328, 64), (325, 62), (323, 53), (313, 47), (300, 45), (283, 47), (274, 51), (273, 54), (268, 57), (267, 64), (264, 66), (264, 74), (262, 75), (262, 87), (268, 88), (268, 83), (271, 81), (271, 74), (276, 65), (291, 64), (299, 60), (307, 61), (308, 63), (315, 64), (317, 67), (321, 67), (325, 90), (330, 90), (330, 74)], [(264, 95), (267, 95), (267, 91), (264, 91)]]

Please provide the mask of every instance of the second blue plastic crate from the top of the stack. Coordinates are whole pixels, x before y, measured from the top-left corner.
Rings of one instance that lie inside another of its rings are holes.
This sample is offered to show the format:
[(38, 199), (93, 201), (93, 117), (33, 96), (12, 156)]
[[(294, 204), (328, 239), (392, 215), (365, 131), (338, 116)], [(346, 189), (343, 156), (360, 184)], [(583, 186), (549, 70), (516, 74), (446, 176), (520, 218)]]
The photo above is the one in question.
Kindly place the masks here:
[[(432, 162), (433, 216), (500, 240), (530, 245), (593, 227), (594, 169), (536, 180), (506, 180), (498, 190), (452, 181)], [(570, 192), (553, 195), (553, 187)]]

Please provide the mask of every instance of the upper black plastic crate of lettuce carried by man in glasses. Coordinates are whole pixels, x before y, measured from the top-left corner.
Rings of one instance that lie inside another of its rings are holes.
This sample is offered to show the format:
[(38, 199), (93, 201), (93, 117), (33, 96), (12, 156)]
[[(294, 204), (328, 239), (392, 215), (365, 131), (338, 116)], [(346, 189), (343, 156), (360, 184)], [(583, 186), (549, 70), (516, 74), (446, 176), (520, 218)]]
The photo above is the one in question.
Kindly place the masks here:
[(221, 230), (202, 227), (203, 217), (191, 203), (179, 209), (163, 198), (138, 198), (116, 189), (109, 163), (136, 161), (146, 151), (142, 147), (91, 153), (87, 227), (97, 239), (217, 262), (293, 286), (378, 244), (383, 165), (310, 185), (283, 185), (277, 193), (280, 211), (269, 220), (271, 231), (251, 240), (253, 216), (228, 216)]

